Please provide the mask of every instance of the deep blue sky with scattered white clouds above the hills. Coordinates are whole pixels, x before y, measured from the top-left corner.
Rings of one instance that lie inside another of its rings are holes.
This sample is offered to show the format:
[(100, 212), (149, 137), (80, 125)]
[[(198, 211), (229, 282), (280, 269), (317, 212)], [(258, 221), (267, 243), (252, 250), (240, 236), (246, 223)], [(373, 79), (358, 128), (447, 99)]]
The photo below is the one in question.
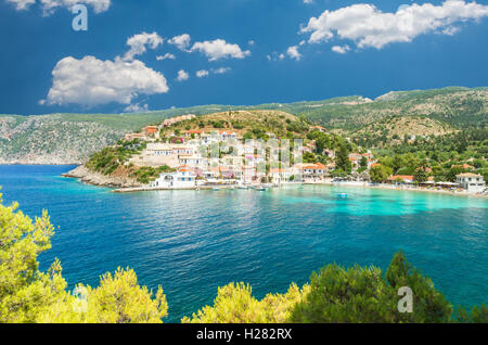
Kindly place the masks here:
[(0, 0), (0, 113), (486, 87), (487, 41), (488, 1)]

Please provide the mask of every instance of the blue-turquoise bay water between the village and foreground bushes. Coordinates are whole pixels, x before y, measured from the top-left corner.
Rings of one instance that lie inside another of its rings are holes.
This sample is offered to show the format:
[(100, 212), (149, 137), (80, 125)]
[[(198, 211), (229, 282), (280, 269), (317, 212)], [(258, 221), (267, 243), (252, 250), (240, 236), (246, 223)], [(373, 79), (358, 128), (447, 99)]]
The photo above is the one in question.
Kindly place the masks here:
[(313, 186), (115, 194), (59, 177), (70, 168), (0, 166), (3, 203), (30, 216), (47, 208), (59, 227), (41, 268), (60, 258), (73, 288), (129, 266), (142, 284), (163, 285), (167, 322), (232, 281), (261, 298), (329, 263), (386, 268), (399, 248), (452, 303), (488, 302), (486, 200)]

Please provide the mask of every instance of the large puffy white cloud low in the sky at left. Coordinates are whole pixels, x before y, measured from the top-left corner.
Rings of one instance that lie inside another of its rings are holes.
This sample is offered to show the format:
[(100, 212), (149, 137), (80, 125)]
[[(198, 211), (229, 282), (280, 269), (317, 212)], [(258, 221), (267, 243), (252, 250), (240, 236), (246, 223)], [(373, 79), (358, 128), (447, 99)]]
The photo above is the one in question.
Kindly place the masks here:
[(165, 77), (139, 60), (116, 58), (101, 61), (94, 56), (81, 60), (68, 56), (52, 71), (53, 84), (47, 104), (95, 106), (116, 102), (131, 104), (140, 94), (166, 93)]

